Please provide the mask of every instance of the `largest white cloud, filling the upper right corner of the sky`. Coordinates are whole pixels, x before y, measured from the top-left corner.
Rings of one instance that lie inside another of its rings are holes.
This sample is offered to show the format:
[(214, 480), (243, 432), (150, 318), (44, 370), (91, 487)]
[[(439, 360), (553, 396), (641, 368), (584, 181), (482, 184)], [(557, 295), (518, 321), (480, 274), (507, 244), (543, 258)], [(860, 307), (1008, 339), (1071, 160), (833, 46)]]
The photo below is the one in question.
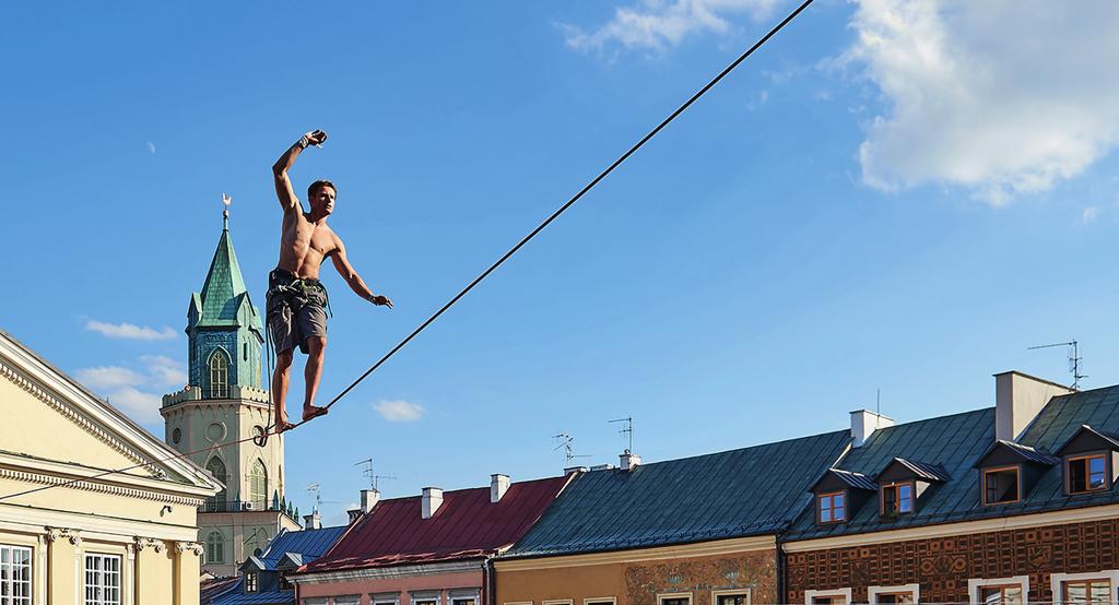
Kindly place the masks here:
[(859, 146), (863, 181), (934, 183), (1003, 204), (1119, 144), (1119, 3), (859, 0), (845, 55), (891, 107)]

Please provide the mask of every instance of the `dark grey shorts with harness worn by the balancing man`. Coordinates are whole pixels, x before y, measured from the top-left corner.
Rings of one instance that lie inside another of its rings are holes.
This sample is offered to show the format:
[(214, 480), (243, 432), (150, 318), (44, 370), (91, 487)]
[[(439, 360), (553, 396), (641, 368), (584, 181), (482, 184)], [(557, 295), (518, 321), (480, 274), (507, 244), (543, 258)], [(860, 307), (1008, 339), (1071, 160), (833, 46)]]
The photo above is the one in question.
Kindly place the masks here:
[[(280, 277), (282, 280), (284, 275)], [(318, 282), (308, 284), (310, 281), (304, 280), (302, 287), (293, 286), (291, 283), (283, 284), (286, 289), (299, 290), (299, 292), (285, 292), (278, 291), (276, 284), (273, 283), (276, 280), (269, 281), (267, 325), (276, 352), (290, 351), (299, 346), (299, 350), (307, 353), (307, 339), (327, 335), (326, 289)]]

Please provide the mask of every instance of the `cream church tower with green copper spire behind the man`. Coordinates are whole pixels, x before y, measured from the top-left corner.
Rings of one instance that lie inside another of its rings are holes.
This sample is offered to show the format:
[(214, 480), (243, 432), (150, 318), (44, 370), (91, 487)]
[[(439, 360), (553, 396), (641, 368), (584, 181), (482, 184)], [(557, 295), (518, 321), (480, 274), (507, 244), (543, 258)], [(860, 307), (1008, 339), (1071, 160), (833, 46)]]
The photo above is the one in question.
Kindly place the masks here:
[[(232, 576), (280, 530), (299, 524), (284, 498), (283, 436), (264, 447), (250, 439), (274, 419), (263, 388), (263, 319), (237, 264), (228, 208), (201, 292), (190, 296), (186, 332), (190, 384), (163, 396), (163, 438), (197, 452), (190, 459), (226, 486), (199, 509), (198, 540), (206, 545), (203, 569)], [(233, 443), (242, 439), (250, 441)]]

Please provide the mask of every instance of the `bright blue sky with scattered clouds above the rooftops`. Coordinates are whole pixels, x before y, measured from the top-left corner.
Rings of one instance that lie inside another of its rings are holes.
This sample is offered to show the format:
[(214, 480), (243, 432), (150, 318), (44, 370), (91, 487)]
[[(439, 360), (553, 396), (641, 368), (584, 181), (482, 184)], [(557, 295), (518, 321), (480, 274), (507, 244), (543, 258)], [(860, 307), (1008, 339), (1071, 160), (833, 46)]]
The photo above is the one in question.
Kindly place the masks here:
[[(302, 132), (330, 140), (297, 191), (338, 183), (396, 303), (323, 268), (329, 397), (792, 7), (227, 4), (0, 9), (2, 327), (157, 434), (222, 192), (262, 305)], [(289, 497), (339, 522), (370, 456), (389, 497), (544, 476), (560, 432), (617, 462), (629, 415), (656, 461), (843, 428), (880, 388), (900, 422), (974, 409), (993, 372), (1068, 381), (1027, 347), (1072, 338), (1116, 382), (1119, 9), (977, 4), (818, 0), (294, 433)]]

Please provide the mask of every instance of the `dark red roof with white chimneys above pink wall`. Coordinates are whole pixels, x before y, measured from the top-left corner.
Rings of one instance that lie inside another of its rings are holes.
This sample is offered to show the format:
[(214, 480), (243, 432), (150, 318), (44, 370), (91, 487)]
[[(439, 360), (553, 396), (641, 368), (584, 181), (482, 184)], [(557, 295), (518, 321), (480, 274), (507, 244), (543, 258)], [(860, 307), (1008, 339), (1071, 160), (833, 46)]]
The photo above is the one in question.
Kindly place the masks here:
[(443, 504), (423, 519), (422, 497), (383, 500), (326, 555), (300, 573), (336, 571), (479, 558), (513, 546), (544, 514), (568, 476), (513, 483), (490, 502), (490, 489), (443, 492)]

